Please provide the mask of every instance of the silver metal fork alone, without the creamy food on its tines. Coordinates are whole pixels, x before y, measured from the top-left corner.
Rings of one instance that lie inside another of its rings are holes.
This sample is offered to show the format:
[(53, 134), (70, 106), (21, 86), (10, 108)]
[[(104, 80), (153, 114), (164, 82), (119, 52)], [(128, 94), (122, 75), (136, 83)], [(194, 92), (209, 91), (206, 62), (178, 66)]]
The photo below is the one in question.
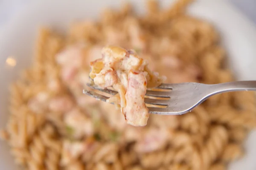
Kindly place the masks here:
[[(117, 94), (116, 91), (110, 89), (102, 89), (91, 84), (87, 84), (87, 86), (111, 95)], [(185, 82), (178, 84), (163, 83), (157, 88), (169, 91), (147, 90), (146, 96), (161, 98), (145, 98), (146, 104), (155, 106), (148, 107), (149, 113), (176, 115), (191, 111), (193, 108), (204, 102), (204, 100), (215, 94), (230, 91), (256, 91), (256, 81), (226, 82), (213, 85), (196, 82)], [(93, 91), (84, 90), (83, 93), (104, 102), (106, 102), (108, 99), (107, 96), (97, 94)]]

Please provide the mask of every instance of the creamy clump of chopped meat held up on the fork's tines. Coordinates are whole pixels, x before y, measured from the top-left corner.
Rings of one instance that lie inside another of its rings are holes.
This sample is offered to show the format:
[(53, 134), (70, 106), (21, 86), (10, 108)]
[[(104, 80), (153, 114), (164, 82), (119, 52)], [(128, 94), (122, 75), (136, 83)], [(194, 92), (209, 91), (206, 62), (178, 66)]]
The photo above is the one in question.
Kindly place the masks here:
[(102, 59), (91, 62), (90, 66), (89, 76), (95, 85), (113, 87), (118, 92), (107, 102), (121, 108), (128, 124), (145, 126), (149, 116), (144, 103), (146, 90), (160, 85), (164, 77), (151, 71), (148, 61), (138, 57), (135, 51), (116, 46), (103, 48)]

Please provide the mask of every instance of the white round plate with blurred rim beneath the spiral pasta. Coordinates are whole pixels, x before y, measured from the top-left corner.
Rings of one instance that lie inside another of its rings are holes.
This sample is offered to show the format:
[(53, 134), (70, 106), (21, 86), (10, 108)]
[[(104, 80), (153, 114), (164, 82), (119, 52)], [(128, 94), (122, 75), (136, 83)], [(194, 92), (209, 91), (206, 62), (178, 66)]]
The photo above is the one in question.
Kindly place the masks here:
[[(138, 11), (144, 11), (144, 1), (131, 0)], [(169, 0), (161, 0), (169, 4)], [(6, 125), (8, 85), (17, 78), (23, 68), (29, 66), (35, 47), (35, 35), (39, 26), (46, 25), (65, 30), (73, 20), (95, 18), (105, 6), (118, 7), (118, 0), (44, 0), (29, 5), (0, 32), (0, 127)], [(200, 0), (189, 8), (189, 13), (209, 20), (220, 31), (222, 42), (230, 56), (230, 67), (237, 79), (256, 79), (256, 29), (244, 15), (224, 0)], [(7, 67), (8, 56), (17, 59), (14, 68)], [(230, 170), (256, 170), (256, 131), (245, 143), (247, 154), (231, 164)], [(17, 167), (9, 154), (6, 143), (0, 143), (0, 169)]]

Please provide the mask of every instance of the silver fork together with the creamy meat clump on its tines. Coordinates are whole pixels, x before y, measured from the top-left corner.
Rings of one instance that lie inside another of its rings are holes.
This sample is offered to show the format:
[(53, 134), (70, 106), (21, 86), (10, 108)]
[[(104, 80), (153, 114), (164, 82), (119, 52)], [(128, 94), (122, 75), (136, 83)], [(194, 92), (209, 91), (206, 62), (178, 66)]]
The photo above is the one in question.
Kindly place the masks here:
[(103, 48), (102, 58), (91, 62), (90, 67), (91, 82), (87, 85), (101, 93), (88, 90), (83, 93), (116, 105), (126, 122), (134, 126), (145, 126), (149, 113), (187, 113), (215, 94), (256, 91), (256, 81), (166, 84), (163, 83), (166, 78), (151, 71), (148, 62), (135, 51), (116, 46)]

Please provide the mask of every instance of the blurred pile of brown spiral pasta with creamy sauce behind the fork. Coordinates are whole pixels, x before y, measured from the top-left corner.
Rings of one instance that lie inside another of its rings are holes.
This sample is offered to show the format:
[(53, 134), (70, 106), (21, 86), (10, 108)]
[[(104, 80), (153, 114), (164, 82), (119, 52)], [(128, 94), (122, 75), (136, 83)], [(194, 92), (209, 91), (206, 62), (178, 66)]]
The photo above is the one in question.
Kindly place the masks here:
[(105, 45), (136, 49), (167, 83), (232, 81), (218, 33), (185, 13), (190, 1), (163, 10), (151, 0), (144, 16), (130, 5), (107, 9), (66, 36), (42, 28), (32, 66), (10, 88), (0, 133), (15, 163), (28, 170), (226, 170), (241, 158), (256, 126), (254, 93), (212, 96), (181, 116), (151, 115), (145, 127), (127, 125), (113, 105), (82, 94), (89, 62)]

